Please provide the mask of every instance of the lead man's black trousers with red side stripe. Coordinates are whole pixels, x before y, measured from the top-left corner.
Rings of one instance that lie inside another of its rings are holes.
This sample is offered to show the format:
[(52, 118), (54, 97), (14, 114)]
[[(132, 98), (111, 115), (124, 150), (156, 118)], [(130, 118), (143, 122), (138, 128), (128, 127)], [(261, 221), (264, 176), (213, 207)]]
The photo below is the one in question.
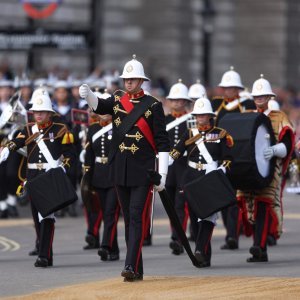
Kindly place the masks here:
[(151, 205), (151, 186), (116, 186), (125, 222), (127, 245), (126, 265), (143, 274), (142, 246), (147, 222), (147, 211)]

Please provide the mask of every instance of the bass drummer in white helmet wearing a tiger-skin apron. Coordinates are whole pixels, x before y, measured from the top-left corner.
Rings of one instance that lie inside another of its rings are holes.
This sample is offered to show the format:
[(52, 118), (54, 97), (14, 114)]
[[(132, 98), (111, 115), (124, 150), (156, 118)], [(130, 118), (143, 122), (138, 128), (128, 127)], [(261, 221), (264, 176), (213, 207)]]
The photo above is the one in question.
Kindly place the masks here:
[[(275, 161), (275, 173), (269, 186), (251, 191), (238, 191), (237, 198), (240, 207), (247, 216), (246, 221), (253, 225), (253, 246), (250, 248), (252, 256), (247, 262), (266, 262), (267, 235), (279, 238), (282, 233), (282, 188), (284, 175), (294, 148), (293, 126), (285, 113), (270, 110), (268, 102), (275, 96), (268, 80), (261, 78), (253, 83), (252, 96), (256, 105), (256, 112), (264, 113), (271, 120), (276, 144), (263, 151), (264, 159)], [(249, 224), (245, 224), (245, 227)], [(255, 225), (255, 226), (254, 226)]]

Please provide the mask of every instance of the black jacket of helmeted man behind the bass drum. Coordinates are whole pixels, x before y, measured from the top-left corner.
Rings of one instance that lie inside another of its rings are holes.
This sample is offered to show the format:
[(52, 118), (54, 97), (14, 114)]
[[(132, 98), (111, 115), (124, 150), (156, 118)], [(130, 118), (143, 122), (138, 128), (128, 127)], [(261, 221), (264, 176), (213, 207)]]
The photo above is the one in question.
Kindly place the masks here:
[[(236, 101), (236, 99), (226, 99), (224, 97), (218, 96), (214, 97), (211, 101), (212, 109), (214, 112), (217, 113), (216, 118), (216, 126), (218, 126), (220, 120), (227, 114), (232, 112), (244, 112), (246, 110), (253, 110), (256, 108), (255, 103), (252, 99), (239, 99), (239, 101)], [(227, 105), (230, 103), (230, 101), (235, 101), (236, 105), (233, 105), (231, 107), (228, 107)]]

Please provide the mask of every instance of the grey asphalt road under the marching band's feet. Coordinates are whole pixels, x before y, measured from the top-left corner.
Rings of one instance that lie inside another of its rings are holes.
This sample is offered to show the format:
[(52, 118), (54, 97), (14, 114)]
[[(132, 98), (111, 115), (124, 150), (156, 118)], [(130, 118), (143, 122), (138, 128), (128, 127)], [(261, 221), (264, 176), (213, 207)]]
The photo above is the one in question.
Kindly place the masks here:
[[(168, 220), (157, 199), (153, 246), (143, 249), (145, 279), (147, 276), (160, 275), (300, 277), (300, 196), (285, 194), (284, 211), (284, 234), (277, 246), (269, 248), (269, 262), (246, 263), (252, 240), (244, 236), (240, 239), (238, 250), (220, 250), (224, 229), (219, 219), (212, 240), (212, 266), (197, 269), (186, 254), (171, 254), (168, 248)], [(83, 250), (86, 230), (84, 218), (65, 217), (56, 222), (54, 266), (40, 269), (33, 266), (35, 257), (28, 256), (35, 238), (28, 207), (20, 208), (20, 213), (16, 222), (13, 219), (0, 221), (0, 297), (120, 277), (125, 258), (122, 219), (118, 229), (120, 261), (102, 262), (97, 251)]]

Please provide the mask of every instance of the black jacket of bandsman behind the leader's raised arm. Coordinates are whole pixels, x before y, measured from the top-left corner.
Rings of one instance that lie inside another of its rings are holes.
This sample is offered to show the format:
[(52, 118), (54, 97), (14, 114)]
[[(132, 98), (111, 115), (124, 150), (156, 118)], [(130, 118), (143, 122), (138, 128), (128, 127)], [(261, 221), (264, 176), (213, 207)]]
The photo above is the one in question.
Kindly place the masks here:
[[(94, 187), (110, 188), (113, 187), (113, 183), (108, 178), (108, 153), (112, 139), (112, 130), (104, 133), (93, 142), (94, 134), (102, 128), (99, 122), (91, 124), (88, 128), (84, 169), (92, 172), (92, 185)], [(100, 162), (96, 162), (96, 158)]]

